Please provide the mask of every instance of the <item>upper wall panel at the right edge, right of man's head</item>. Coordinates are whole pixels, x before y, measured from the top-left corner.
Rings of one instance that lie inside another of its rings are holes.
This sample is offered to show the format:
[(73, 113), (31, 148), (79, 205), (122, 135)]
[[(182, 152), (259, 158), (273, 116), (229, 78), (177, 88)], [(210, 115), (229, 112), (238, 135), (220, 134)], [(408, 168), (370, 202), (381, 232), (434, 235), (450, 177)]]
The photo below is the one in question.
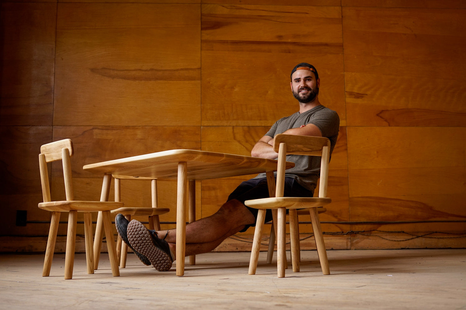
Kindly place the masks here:
[(351, 126), (465, 126), (465, 10), (343, 7)]

